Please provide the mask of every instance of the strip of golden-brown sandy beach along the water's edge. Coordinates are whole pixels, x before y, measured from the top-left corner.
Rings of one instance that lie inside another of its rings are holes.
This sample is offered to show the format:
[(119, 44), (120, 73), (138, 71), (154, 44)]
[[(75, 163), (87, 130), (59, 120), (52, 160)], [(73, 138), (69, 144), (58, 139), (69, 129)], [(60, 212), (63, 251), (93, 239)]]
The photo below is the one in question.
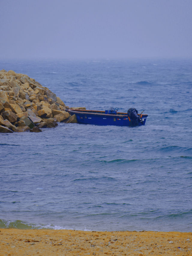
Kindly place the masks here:
[(192, 233), (0, 229), (0, 255), (192, 255)]

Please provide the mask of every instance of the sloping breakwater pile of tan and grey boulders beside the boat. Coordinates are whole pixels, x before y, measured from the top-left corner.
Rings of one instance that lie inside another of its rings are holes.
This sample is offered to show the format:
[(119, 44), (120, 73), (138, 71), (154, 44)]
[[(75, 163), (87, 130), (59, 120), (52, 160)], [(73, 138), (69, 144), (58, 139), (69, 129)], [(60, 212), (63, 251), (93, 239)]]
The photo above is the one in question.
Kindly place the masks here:
[(39, 132), (58, 122), (77, 122), (75, 115), (65, 111), (68, 108), (35, 79), (12, 70), (0, 71), (0, 132)]

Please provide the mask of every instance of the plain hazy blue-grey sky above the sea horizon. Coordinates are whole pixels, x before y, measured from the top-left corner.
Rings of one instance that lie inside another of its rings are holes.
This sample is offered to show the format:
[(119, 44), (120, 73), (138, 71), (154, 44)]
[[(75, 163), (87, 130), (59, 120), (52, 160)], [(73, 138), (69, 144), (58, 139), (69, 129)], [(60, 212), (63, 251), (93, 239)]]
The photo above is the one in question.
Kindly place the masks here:
[(0, 0), (0, 58), (192, 57), (192, 0)]

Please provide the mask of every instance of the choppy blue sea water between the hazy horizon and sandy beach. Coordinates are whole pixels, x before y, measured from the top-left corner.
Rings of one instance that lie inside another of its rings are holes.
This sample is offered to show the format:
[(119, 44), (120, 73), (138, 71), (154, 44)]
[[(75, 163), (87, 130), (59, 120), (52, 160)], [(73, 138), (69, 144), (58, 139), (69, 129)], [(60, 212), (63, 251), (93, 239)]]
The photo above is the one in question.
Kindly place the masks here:
[(3, 61), (69, 107), (148, 114), (142, 127), (59, 123), (0, 134), (0, 227), (192, 230), (192, 62)]

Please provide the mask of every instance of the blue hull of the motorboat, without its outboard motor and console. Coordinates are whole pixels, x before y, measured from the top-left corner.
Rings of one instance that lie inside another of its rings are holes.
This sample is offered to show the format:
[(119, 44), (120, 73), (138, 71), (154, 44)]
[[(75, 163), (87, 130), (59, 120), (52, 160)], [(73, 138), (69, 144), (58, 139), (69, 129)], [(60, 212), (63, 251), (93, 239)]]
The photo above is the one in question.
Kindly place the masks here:
[[(71, 115), (75, 114), (77, 122), (89, 125), (117, 125), (117, 126), (135, 126), (127, 113), (117, 113), (116, 115), (105, 114), (104, 111), (94, 110), (67, 110)], [(148, 115), (142, 115), (143, 122), (137, 126), (145, 125)]]

